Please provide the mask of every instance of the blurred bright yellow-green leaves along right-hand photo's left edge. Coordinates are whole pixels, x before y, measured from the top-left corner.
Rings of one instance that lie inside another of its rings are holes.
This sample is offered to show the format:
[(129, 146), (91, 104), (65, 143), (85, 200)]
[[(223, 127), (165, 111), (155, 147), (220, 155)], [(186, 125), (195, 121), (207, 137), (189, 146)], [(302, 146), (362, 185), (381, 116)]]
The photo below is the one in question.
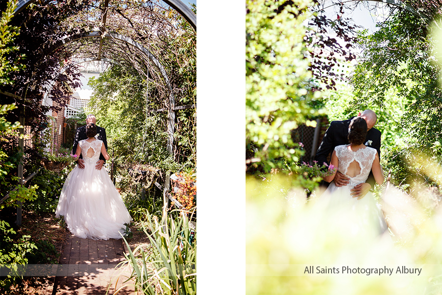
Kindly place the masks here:
[[(308, 0), (247, 1), (246, 8), (246, 148), (247, 163), (261, 173), (297, 169), (302, 151), (290, 131), (315, 114), (309, 102), (320, 95), (309, 89), (305, 21)], [(279, 8), (279, 10), (278, 10)]]

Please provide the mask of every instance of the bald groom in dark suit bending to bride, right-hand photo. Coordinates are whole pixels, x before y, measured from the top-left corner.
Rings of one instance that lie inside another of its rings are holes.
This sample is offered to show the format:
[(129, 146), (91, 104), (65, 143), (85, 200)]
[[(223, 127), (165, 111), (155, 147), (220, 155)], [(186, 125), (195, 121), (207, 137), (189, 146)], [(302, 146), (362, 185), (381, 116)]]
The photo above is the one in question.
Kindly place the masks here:
[[(378, 151), (379, 156), (381, 156), (381, 131), (373, 128), (377, 121), (375, 112), (365, 110), (362, 113), (359, 113), (358, 117), (365, 119), (367, 122), (368, 132), (364, 140), (365, 146), (375, 148)], [(353, 118), (355, 117), (348, 120), (331, 122), (330, 127), (327, 129), (321, 145), (316, 152), (315, 161), (317, 161), (319, 165), (322, 165), (323, 163), (327, 163), (327, 165), (329, 164), (327, 158), (333, 152), (335, 147), (340, 145), (348, 145), (348, 126)], [(351, 190), (353, 197), (359, 198), (365, 196), (374, 186), (374, 182), (372, 180), (373, 176), (370, 173), (367, 182), (361, 183)], [(345, 177), (342, 173), (337, 172), (333, 181), (336, 186), (343, 186), (347, 185), (349, 178)]]

